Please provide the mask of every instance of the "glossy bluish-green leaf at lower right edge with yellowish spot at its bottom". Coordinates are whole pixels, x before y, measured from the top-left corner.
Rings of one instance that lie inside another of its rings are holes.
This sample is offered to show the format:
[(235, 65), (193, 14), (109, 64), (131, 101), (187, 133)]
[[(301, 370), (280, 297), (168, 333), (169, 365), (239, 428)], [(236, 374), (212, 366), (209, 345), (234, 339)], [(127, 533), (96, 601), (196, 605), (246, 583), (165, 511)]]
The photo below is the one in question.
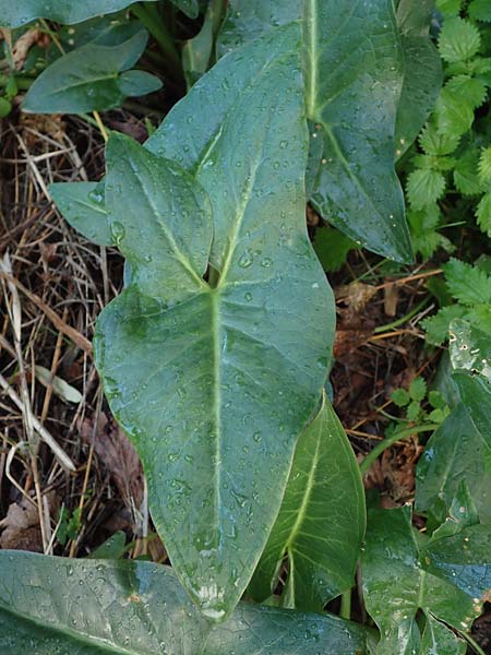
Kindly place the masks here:
[(479, 610), (481, 596), (491, 590), (490, 525), (472, 525), (454, 536), (430, 541), (423, 557), (431, 573), (470, 596), (474, 611)]

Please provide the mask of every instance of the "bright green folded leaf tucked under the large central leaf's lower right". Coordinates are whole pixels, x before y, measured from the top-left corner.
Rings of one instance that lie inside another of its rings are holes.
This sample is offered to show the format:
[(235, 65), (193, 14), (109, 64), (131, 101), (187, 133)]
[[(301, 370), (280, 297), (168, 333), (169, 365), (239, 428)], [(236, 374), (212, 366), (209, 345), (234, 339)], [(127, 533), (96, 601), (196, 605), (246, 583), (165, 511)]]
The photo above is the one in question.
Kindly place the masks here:
[(324, 397), (297, 443), (282, 509), (249, 592), (258, 600), (267, 598), (287, 555), (288, 606), (321, 611), (351, 586), (364, 524), (359, 466)]

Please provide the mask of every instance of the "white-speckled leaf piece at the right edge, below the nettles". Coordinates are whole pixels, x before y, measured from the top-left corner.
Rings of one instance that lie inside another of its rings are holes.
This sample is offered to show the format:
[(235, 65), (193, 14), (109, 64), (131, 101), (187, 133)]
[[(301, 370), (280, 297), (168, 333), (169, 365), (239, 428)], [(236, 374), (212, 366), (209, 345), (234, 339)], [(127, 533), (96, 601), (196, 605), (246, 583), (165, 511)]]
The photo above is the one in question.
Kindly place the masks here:
[(491, 382), (491, 336), (467, 321), (455, 320), (450, 326), (450, 355), (454, 369), (479, 373)]

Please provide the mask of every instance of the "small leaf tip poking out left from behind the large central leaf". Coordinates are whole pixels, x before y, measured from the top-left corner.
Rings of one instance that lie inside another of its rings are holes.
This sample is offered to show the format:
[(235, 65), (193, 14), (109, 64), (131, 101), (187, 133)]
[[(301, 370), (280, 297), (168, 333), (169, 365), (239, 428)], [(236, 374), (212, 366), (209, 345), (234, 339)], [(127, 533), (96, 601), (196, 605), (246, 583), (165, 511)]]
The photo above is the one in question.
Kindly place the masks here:
[(104, 182), (58, 182), (49, 192), (63, 218), (89, 241), (113, 246), (105, 205)]

